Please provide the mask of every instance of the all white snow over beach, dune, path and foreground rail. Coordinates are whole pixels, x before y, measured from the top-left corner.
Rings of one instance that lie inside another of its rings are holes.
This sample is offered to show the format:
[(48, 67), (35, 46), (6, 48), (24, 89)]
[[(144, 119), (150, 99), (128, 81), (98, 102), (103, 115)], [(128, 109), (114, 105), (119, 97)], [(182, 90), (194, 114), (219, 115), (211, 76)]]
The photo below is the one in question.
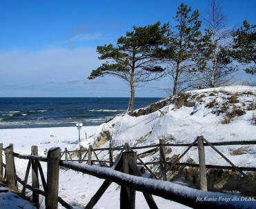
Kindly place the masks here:
[[(39, 155), (46, 156), (45, 152), (53, 147), (60, 147), (61, 150), (67, 148), (68, 150), (79, 149), (80, 146), (88, 148), (89, 145), (97, 145), (97, 140), (103, 132), (108, 131), (112, 138), (107, 141), (101, 148), (108, 147), (109, 143), (114, 146), (124, 146), (124, 143), (129, 143), (130, 146), (147, 146), (158, 144), (159, 139), (166, 139), (166, 143), (192, 143), (195, 139), (203, 135), (205, 139), (210, 142), (223, 141), (256, 141), (256, 126), (253, 126), (253, 117), (255, 112), (253, 110), (253, 103), (256, 101), (256, 87), (251, 86), (227, 86), (221, 88), (209, 88), (204, 90), (193, 90), (186, 92), (191, 97), (189, 101), (195, 101), (195, 106), (182, 106), (177, 108), (175, 103), (168, 103), (168, 106), (161, 108), (161, 112), (153, 112), (149, 115), (142, 115), (140, 117), (132, 117), (128, 113), (120, 114), (114, 117), (108, 123), (103, 123), (100, 126), (81, 128), (81, 142), (78, 141), (77, 128), (31, 128), (31, 129), (2, 129), (0, 130), (0, 139), (3, 147), (14, 144), (14, 152), (30, 155), (31, 146), (39, 147)], [(192, 96), (194, 100), (191, 99)], [(237, 103), (228, 103), (231, 95), (236, 95), (239, 99)], [(197, 99), (198, 98), (198, 99)], [(209, 106), (213, 103), (214, 106)], [(228, 106), (228, 110), (232, 108), (242, 108), (246, 114), (234, 117), (230, 123), (223, 124), (225, 113), (220, 112), (221, 108)], [(219, 113), (218, 113), (219, 111)], [(193, 114), (192, 114), (193, 113)], [(86, 139), (86, 133), (88, 139)], [(173, 153), (181, 155), (187, 147), (172, 147), (172, 152), (168, 153), (171, 157)], [(235, 166), (242, 167), (256, 167), (256, 146), (216, 146)], [(233, 155), (235, 150), (244, 150), (239, 155)], [(218, 166), (230, 166), (220, 155), (212, 148), (206, 149), (206, 164)], [(139, 150), (143, 152), (145, 150)], [(114, 154), (117, 152), (114, 152)], [(146, 157), (148, 161), (154, 161), (158, 154)], [(108, 159), (108, 155), (99, 155), (101, 159)], [(188, 159), (193, 159), (198, 163), (197, 148), (190, 149), (180, 162), (187, 162)], [(25, 176), (26, 166), (28, 161), (15, 158), (15, 165), (17, 175), (23, 179)], [(69, 162), (70, 163), (70, 162)], [(72, 164), (72, 163), (71, 163)], [(74, 163), (77, 164), (77, 163)], [(41, 163), (43, 170), (46, 173), (46, 163)], [(82, 166), (82, 164), (79, 164)], [(86, 166), (86, 165), (85, 165)], [(88, 166), (86, 166), (88, 167)], [(101, 170), (101, 168), (97, 168)], [(109, 172), (119, 175), (115, 170), (109, 169)], [(125, 175), (124, 175), (125, 176)], [(141, 178), (132, 177), (130, 181), (135, 183), (141, 182)], [(30, 180), (29, 180), (30, 181)], [(99, 189), (104, 179), (98, 179), (90, 175), (76, 172), (74, 170), (60, 170), (59, 179), (59, 196), (70, 203), (75, 208), (84, 208), (86, 203)], [(152, 179), (144, 179), (145, 182), (152, 183)], [(30, 183), (30, 182), (28, 182)], [(168, 188), (173, 191), (178, 191), (180, 194), (187, 195), (190, 198), (197, 198), (205, 196), (200, 190), (194, 190), (186, 186), (181, 186), (181, 183), (156, 183), (155, 188)], [(21, 187), (20, 187), (21, 189)], [(119, 186), (112, 183), (106, 190), (103, 197), (96, 204), (95, 208), (119, 208)], [(212, 192), (213, 193), (213, 192)], [(12, 197), (11, 192), (0, 192), (1, 208), (10, 208), (8, 204), (12, 204), (11, 208), (18, 207), (18, 199)], [(200, 196), (201, 195), (201, 196)], [(213, 196), (208, 197), (229, 197), (220, 193), (213, 193)], [(221, 195), (221, 196), (220, 196)], [(232, 196), (235, 197), (235, 196)], [(237, 206), (255, 207), (255, 201), (242, 201), (242, 197), (237, 195), (240, 201), (237, 201)], [(4, 198), (4, 199), (3, 199)], [(11, 199), (11, 201), (7, 201)], [(14, 201), (15, 199), (15, 201)], [(154, 196), (154, 199), (159, 208), (188, 208), (184, 205)], [(141, 192), (136, 195), (136, 207), (148, 208), (146, 201)], [(6, 205), (1, 204), (4, 202)], [(221, 203), (221, 200), (218, 200)], [(21, 203), (24, 206), (25, 203)], [(252, 204), (252, 205), (250, 205)], [(19, 205), (19, 206), (21, 206)], [(32, 205), (26, 203), (23, 208), (32, 208)], [(59, 208), (63, 208), (59, 205)]]

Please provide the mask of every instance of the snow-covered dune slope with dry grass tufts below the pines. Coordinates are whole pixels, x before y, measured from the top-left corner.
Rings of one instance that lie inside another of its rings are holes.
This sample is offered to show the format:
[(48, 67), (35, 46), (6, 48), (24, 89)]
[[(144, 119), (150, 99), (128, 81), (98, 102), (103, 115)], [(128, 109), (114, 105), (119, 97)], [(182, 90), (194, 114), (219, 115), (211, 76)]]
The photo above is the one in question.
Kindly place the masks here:
[[(99, 126), (92, 141), (97, 141), (103, 132), (110, 132), (110, 143), (114, 146), (122, 146), (126, 142), (130, 146), (147, 146), (159, 143), (159, 139), (166, 139), (170, 143), (192, 143), (198, 136), (204, 136), (210, 142), (256, 141), (256, 126), (253, 126), (256, 119), (256, 87), (229, 86), (195, 90), (186, 92), (186, 97), (187, 101), (194, 101), (193, 106), (177, 108), (175, 103), (169, 101), (168, 106), (161, 108), (165, 112), (164, 116), (159, 111), (139, 117), (119, 115)], [(229, 114), (237, 109), (243, 110), (244, 115), (235, 116), (230, 119), (230, 123), (225, 123)], [(81, 145), (86, 147), (87, 141)], [(236, 166), (256, 167), (256, 146), (217, 148)], [(244, 150), (243, 155), (233, 155), (237, 149)], [(172, 150), (170, 155), (181, 155), (186, 147), (172, 147)], [(189, 158), (198, 163), (197, 148), (191, 149), (181, 162)], [(206, 164), (230, 166), (225, 160), (217, 159), (220, 159), (219, 155), (212, 148), (206, 147)]]

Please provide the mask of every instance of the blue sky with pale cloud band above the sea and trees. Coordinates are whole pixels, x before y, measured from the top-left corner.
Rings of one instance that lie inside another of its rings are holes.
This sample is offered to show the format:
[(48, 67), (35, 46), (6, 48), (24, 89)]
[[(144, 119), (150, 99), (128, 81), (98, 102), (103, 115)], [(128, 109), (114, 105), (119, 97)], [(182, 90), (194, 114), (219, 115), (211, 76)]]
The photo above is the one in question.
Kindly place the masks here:
[[(170, 21), (181, 3), (206, 12), (207, 0), (0, 1), (0, 97), (130, 97), (116, 77), (88, 80), (101, 63), (97, 46), (132, 26)], [(255, 0), (226, 0), (227, 27), (256, 23)], [(243, 70), (237, 80), (255, 81)], [(135, 97), (167, 97), (169, 77), (136, 88)]]

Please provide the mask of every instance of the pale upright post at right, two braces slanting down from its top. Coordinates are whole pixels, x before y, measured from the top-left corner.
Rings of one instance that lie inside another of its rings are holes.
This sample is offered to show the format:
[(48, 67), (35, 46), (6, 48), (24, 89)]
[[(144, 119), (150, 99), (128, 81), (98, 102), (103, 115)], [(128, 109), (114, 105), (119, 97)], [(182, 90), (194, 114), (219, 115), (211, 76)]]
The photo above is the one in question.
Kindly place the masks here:
[(200, 190), (207, 191), (207, 179), (206, 179), (206, 157), (204, 154), (204, 137), (197, 137), (198, 141), (198, 156), (199, 156), (199, 181)]

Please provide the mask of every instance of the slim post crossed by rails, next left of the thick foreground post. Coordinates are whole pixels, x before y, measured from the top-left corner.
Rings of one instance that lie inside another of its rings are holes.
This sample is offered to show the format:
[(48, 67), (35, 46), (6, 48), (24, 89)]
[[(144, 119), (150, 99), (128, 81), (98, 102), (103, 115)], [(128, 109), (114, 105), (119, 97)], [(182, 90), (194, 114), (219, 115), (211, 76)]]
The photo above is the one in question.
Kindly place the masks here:
[[(38, 156), (38, 147), (31, 147), (31, 155)], [(38, 166), (37, 161), (32, 160), (32, 187), (39, 188), (39, 178), (38, 178)], [(39, 194), (37, 192), (32, 192), (32, 202), (36, 204), (36, 207), (39, 208)]]

